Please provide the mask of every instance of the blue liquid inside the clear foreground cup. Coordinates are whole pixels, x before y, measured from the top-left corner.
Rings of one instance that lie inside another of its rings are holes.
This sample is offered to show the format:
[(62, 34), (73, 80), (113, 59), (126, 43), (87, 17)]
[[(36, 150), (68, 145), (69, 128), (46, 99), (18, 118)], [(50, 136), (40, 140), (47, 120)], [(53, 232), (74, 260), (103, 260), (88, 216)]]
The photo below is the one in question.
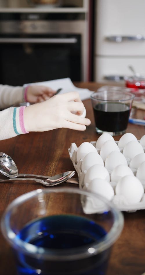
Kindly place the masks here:
[[(106, 231), (92, 220), (80, 216), (57, 215), (33, 220), (19, 232), (17, 237), (46, 249), (77, 251), (84, 247), (84, 251), (87, 251), (105, 235)], [(88, 257), (78, 257), (73, 260), (60, 260), (59, 257), (57, 260), (40, 259), (16, 250), (14, 253), (19, 275), (97, 275), (105, 274), (110, 248), (96, 255), (89, 254)]]

